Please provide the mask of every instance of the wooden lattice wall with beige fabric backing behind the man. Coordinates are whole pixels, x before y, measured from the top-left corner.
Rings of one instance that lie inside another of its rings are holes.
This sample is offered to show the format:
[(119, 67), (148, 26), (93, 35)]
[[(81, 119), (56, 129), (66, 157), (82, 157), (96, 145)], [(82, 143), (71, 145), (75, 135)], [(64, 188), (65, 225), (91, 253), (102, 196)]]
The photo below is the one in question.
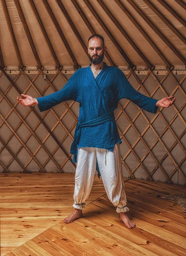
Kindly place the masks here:
[[(121, 136), (121, 160), (125, 177), (186, 184), (186, 75), (167, 68), (157, 75), (153, 68), (141, 75), (130, 69), (126, 75), (136, 90), (155, 99), (176, 96), (171, 108), (156, 114), (142, 111), (121, 99), (115, 111)], [(16, 97), (33, 97), (60, 90), (70, 78), (56, 68), (46, 74), (20, 69), (17, 74), (0, 73), (0, 171), (75, 172), (70, 145), (79, 115), (79, 103), (63, 102), (40, 112), (38, 106), (23, 107)], [(178, 172), (177, 172), (178, 171)]]

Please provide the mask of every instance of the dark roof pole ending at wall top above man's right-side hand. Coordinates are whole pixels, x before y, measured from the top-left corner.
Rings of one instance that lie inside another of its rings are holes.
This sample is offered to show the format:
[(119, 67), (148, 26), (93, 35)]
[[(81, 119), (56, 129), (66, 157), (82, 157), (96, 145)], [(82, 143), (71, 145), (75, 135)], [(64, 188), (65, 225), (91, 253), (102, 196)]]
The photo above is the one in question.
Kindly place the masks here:
[(130, 14), (130, 12), (125, 8), (123, 3), (121, 3), (120, 0), (114, 0), (117, 5), (121, 8), (121, 10), (127, 15), (127, 17), (132, 21), (132, 23), (135, 25), (135, 27), (141, 32), (141, 34), (144, 36), (144, 38), (149, 42), (149, 44), (152, 46), (152, 48), (155, 50), (155, 52), (160, 56), (162, 61), (166, 64), (167, 67), (171, 68), (171, 64), (165, 56), (162, 54), (162, 52), (158, 49), (158, 47), (154, 44), (154, 42), (149, 38), (149, 36), (146, 34), (144, 29), (139, 25), (139, 23), (134, 19), (134, 17)]

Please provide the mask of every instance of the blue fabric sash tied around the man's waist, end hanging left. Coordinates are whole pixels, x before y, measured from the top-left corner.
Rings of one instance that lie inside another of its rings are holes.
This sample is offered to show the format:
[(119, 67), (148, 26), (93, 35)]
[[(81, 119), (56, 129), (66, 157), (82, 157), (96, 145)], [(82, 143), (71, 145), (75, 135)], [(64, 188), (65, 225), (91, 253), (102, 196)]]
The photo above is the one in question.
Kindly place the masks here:
[(87, 122), (80, 123), (78, 121), (78, 123), (76, 125), (75, 134), (74, 134), (74, 140), (70, 147), (70, 153), (73, 154), (73, 163), (76, 163), (76, 161), (77, 161), (77, 154), (78, 154), (77, 145), (79, 143), (79, 139), (81, 136), (81, 128), (103, 124), (108, 121), (115, 121), (115, 116), (114, 116), (113, 111), (110, 111), (110, 112), (104, 114), (103, 116), (99, 116), (98, 118), (89, 120)]

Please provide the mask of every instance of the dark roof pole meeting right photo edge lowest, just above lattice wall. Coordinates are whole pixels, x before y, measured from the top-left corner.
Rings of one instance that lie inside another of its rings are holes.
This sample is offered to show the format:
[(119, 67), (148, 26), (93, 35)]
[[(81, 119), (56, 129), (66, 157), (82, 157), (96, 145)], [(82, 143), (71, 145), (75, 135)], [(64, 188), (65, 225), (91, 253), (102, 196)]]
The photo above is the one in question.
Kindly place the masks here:
[(175, 49), (175, 47), (169, 42), (168, 39), (156, 28), (156, 26), (144, 15), (144, 13), (138, 8), (138, 6), (132, 1), (127, 0), (128, 3), (135, 9), (136, 12), (147, 22), (147, 24), (156, 32), (161, 40), (178, 56), (178, 58), (186, 65), (186, 59)]

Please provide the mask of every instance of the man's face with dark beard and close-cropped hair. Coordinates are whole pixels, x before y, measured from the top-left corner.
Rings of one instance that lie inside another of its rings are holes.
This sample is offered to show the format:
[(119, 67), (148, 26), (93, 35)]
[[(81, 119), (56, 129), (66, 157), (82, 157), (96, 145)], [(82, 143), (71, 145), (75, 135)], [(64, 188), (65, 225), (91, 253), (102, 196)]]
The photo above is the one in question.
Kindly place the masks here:
[(94, 65), (98, 65), (104, 58), (104, 52), (106, 47), (103, 47), (103, 43), (100, 38), (91, 38), (88, 42), (88, 54), (89, 59)]

